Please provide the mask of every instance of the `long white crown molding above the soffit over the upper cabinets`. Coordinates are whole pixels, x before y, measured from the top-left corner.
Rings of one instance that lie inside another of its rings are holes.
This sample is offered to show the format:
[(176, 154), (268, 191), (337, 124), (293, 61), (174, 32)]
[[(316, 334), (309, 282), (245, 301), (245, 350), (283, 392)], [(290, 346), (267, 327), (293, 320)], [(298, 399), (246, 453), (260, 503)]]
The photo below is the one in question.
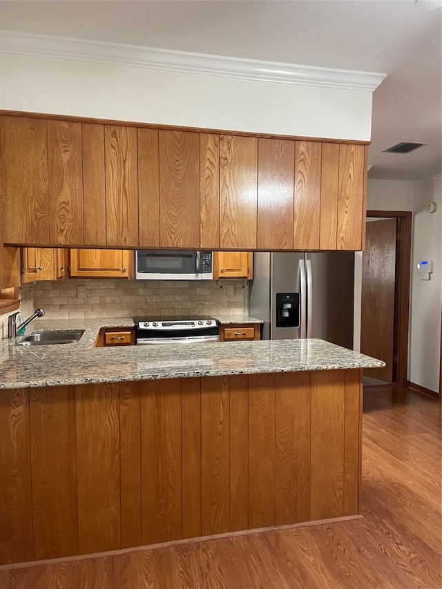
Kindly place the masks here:
[(386, 74), (280, 64), (26, 32), (0, 31), (0, 52), (133, 68), (374, 92)]

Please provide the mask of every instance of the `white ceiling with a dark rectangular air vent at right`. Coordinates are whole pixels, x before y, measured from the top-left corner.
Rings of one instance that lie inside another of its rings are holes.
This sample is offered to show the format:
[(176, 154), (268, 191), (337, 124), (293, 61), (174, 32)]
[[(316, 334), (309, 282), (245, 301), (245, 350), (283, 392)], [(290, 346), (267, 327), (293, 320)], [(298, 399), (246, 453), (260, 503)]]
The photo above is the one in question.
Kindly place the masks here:
[[(374, 93), (369, 177), (441, 172), (442, 9), (430, 0), (0, 1), (0, 28), (387, 73)], [(330, 113), (333, 116), (333, 113)], [(408, 155), (381, 153), (401, 141)]]

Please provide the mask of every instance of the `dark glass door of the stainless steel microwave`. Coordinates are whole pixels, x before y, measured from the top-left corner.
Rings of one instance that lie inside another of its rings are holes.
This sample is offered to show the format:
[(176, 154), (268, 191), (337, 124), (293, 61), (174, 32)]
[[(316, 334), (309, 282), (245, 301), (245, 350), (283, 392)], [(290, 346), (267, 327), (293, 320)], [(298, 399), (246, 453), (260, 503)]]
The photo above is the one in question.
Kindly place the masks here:
[(137, 271), (146, 274), (173, 274), (185, 276), (196, 273), (195, 251), (147, 251), (137, 252)]

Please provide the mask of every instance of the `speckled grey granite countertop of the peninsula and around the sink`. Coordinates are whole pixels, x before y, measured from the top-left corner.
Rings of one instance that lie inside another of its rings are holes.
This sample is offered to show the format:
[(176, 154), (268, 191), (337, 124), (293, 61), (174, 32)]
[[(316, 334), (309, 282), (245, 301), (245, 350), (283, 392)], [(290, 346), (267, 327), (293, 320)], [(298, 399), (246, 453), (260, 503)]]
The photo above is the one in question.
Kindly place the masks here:
[(84, 334), (65, 345), (21, 347), (0, 340), (0, 389), (385, 365), (323, 340), (93, 347), (100, 327), (132, 325), (132, 319), (36, 322), (27, 335), (54, 329)]

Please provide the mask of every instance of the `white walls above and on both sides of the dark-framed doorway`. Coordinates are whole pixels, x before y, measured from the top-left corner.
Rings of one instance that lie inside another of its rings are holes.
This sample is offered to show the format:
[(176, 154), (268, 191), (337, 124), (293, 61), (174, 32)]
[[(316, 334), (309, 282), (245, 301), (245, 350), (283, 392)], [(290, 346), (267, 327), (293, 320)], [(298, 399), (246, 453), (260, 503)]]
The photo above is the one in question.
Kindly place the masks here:
[[(410, 300), (410, 341), (408, 349), (408, 380), (439, 391), (439, 363), (441, 361), (441, 306), (442, 306), (442, 203), (441, 177), (418, 182), (369, 180), (367, 210), (412, 211), (412, 273)], [(428, 202), (437, 203), (434, 214), (427, 213)], [(434, 260), (430, 281), (419, 280), (416, 263), (419, 259)], [(361, 342), (362, 255), (355, 258), (355, 314), (354, 349)]]

